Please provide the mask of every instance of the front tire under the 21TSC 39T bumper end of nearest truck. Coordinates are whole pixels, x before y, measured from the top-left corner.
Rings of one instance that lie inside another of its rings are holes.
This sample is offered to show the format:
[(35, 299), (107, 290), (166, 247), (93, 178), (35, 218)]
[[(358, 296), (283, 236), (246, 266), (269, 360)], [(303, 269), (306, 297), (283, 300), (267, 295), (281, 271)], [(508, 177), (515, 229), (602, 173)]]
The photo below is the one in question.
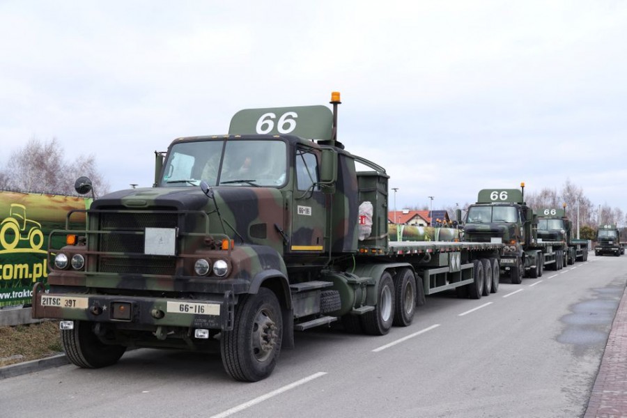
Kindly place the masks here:
[(93, 332), (93, 323), (75, 320), (73, 330), (61, 330), (61, 343), (70, 362), (83, 369), (100, 369), (116, 364), (125, 346), (105, 344)]

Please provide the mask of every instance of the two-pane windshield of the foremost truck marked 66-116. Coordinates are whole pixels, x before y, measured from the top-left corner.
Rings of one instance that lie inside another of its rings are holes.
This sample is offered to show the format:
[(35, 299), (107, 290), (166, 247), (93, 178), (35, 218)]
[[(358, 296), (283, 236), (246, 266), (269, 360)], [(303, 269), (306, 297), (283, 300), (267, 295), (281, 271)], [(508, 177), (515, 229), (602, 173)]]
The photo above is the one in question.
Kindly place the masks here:
[(231, 139), (174, 144), (164, 164), (161, 186), (280, 186), (286, 181), (284, 141)]

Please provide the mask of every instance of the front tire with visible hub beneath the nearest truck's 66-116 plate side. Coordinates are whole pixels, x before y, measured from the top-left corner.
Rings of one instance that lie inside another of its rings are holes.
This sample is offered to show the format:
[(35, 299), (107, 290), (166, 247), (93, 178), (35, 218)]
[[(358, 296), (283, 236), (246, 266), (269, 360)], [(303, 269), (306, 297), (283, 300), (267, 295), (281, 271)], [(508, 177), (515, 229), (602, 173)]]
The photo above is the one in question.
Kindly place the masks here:
[(235, 380), (257, 382), (277, 365), (283, 338), (281, 305), (268, 288), (245, 295), (235, 305), (233, 330), (220, 339), (222, 364)]

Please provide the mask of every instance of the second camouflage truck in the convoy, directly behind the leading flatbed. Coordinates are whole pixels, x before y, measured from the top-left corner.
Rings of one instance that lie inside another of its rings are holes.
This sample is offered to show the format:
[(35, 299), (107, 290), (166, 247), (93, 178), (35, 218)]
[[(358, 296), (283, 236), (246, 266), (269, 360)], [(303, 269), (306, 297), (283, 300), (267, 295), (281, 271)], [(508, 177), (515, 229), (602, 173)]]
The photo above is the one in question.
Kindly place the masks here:
[(541, 277), (545, 268), (562, 268), (566, 242), (541, 242), (537, 239), (538, 219), (521, 189), (483, 189), (477, 203), (468, 208), (464, 239), (470, 242), (503, 243), (501, 268), (513, 284), (522, 277)]

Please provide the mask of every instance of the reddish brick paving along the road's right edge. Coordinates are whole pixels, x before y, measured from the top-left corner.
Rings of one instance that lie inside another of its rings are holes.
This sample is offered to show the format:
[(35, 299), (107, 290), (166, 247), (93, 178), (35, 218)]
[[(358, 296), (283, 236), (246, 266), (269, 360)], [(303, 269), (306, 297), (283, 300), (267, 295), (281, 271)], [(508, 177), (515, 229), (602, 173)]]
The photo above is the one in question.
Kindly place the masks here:
[(616, 311), (584, 418), (627, 418), (627, 288)]

